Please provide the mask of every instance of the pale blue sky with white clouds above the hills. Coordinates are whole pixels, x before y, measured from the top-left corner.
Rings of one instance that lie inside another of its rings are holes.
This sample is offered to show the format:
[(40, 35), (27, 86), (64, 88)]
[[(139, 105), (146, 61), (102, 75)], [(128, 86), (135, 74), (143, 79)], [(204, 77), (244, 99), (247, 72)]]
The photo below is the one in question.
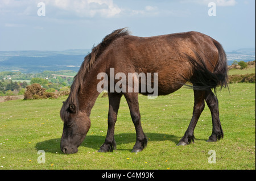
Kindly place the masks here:
[(228, 52), (255, 48), (255, 1), (0, 0), (0, 51), (91, 49), (123, 27), (144, 37), (199, 31)]

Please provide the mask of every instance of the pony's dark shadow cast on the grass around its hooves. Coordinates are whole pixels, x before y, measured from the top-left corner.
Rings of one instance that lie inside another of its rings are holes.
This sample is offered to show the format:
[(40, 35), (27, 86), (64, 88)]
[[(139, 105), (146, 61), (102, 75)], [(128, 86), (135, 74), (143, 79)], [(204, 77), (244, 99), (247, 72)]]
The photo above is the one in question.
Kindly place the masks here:
[[(181, 137), (176, 137), (172, 134), (162, 134), (162, 133), (145, 133), (148, 140), (148, 145), (152, 141), (171, 141), (177, 144)], [(121, 134), (115, 134), (115, 141), (117, 142), (117, 150), (129, 150), (131, 151), (133, 148), (130, 149), (118, 149), (118, 145), (122, 144), (130, 144), (134, 143), (136, 141), (136, 134), (135, 133), (121, 133)], [(92, 148), (95, 150), (100, 149), (100, 146), (104, 143), (106, 138), (102, 135), (87, 135), (85, 137), (85, 140), (80, 145), (80, 148), (82, 146), (86, 148)], [(61, 138), (55, 138), (51, 140), (46, 140), (42, 142), (38, 142), (35, 146), (37, 150), (44, 150), (48, 153), (59, 153), (63, 154), (60, 150), (60, 139)]]

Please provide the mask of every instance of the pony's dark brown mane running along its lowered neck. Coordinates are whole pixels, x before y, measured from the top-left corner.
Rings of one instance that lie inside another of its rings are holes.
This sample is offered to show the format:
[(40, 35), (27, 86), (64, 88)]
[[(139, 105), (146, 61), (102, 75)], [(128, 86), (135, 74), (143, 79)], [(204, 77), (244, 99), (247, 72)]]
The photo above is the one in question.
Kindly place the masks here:
[(87, 56), (84, 57), (84, 62), (82, 62), (81, 67), (74, 77), (71, 91), (66, 103), (75, 104), (76, 108), (78, 108), (78, 99), (77, 92), (80, 89), (81, 83), (84, 81), (85, 74), (92, 68), (94, 62), (97, 61), (97, 58), (106, 50), (106, 48), (118, 37), (129, 35), (129, 31), (127, 28), (121, 28), (118, 30), (114, 30), (109, 35), (106, 35), (104, 39), (98, 44), (96, 47), (93, 46), (92, 52), (90, 52)]

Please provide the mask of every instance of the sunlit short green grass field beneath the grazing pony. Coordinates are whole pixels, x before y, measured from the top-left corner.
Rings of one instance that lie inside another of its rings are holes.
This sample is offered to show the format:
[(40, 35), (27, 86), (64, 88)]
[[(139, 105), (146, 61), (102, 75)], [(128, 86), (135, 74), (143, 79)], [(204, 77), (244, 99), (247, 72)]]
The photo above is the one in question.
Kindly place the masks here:
[[(115, 125), (117, 150), (97, 153), (107, 132), (108, 98), (98, 98), (90, 119), (91, 128), (76, 154), (60, 150), (63, 122), (59, 111), (67, 98), (12, 100), (0, 103), (0, 170), (3, 169), (255, 169), (255, 84), (229, 85), (218, 91), (224, 139), (206, 142), (212, 121), (205, 107), (196, 129), (195, 143), (176, 146), (192, 117), (193, 91), (147, 99), (139, 95), (142, 127), (147, 148), (131, 153), (135, 128), (126, 100), (121, 99)], [(46, 152), (39, 164), (38, 150)], [(209, 150), (216, 163), (208, 163)]]

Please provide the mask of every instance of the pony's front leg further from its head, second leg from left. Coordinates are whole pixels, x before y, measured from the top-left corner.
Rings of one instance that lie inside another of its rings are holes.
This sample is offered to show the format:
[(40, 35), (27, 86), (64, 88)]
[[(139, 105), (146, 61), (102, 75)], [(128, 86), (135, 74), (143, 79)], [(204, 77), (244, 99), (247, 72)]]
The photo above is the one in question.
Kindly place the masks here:
[(131, 119), (136, 130), (136, 142), (131, 152), (142, 151), (147, 146), (147, 138), (141, 126), (141, 114), (139, 113), (138, 93), (123, 93), (130, 109)]

